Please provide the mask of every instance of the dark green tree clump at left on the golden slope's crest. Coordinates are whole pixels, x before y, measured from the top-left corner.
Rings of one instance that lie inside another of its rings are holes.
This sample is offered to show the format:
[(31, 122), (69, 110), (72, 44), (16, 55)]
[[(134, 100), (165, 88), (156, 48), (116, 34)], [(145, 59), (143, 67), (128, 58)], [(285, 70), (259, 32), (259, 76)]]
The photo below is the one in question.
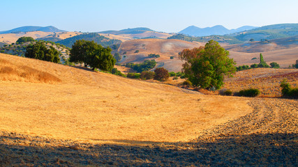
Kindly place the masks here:
[(50, 46), (50, 49), (47, 49), (43, 42), (36, 42), (34, 45), (28, 45), (25, 56), (27, 58), (36, 58), (42, 61), (50, 61), (54, 63), (60, 62), (59, 52), (52, 46)]

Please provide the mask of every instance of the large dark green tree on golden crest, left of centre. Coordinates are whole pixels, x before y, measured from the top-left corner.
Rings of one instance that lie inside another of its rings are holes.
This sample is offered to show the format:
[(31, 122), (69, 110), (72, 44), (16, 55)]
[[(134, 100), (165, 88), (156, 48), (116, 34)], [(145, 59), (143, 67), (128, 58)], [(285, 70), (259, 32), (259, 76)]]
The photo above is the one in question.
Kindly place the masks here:
[(84, 67), (88, 65), (92, 70), (99, 68), (100, 70), (111, 71), (116, 60), (111, 54), (110, 47), (104, 48), (96, 44), (94, 41), (77, 40), (70, 50), (70, 62), (84, 63)]

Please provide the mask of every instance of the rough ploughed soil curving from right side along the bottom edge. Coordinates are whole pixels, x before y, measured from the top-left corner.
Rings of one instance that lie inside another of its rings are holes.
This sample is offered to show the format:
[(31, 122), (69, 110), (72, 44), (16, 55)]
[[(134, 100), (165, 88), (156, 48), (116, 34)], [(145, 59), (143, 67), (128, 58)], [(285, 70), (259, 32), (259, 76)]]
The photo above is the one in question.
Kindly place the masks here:
[(249, 105), (252, 113), (188, 143), (93, 145), (0, 132), (0, 166), (297, 166), (297, 100)]

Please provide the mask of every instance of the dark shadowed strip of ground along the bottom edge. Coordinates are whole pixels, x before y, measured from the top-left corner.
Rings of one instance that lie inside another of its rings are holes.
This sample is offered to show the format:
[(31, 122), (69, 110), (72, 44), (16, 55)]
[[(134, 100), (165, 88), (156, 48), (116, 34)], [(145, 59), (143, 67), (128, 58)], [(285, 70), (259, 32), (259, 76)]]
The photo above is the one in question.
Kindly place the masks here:
[(296, 133), (217, 138), (128, 146), (2, 132), (0, 166), (298, 166)]

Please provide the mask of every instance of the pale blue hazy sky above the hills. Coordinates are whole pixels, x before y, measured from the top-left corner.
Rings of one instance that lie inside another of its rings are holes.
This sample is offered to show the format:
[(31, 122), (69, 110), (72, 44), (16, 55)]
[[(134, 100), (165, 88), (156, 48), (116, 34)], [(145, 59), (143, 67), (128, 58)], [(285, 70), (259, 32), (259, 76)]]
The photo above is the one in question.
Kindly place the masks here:
[(298, 23), (297, 0), (0, 0), (0, 31), (56, 26), (96, 32), (147, 27), (167, 33), (187, 26)]

